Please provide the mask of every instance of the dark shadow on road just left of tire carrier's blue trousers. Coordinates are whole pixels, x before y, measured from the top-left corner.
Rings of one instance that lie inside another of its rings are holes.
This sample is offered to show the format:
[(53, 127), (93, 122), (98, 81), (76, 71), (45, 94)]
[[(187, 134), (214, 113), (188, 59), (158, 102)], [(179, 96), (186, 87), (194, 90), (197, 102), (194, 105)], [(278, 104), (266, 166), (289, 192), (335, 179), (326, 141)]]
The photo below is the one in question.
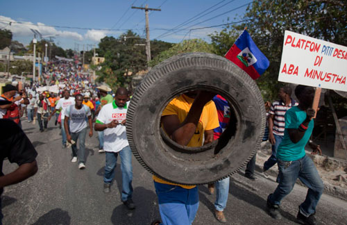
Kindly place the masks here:
[(143, 187), (135, 188), (133, 192), (135, 210), (128, 210), (124, 204), (117, 206), (111, 216), (112, 224), (151, 224), (153, 218), (160, 219), (157, 196)]

